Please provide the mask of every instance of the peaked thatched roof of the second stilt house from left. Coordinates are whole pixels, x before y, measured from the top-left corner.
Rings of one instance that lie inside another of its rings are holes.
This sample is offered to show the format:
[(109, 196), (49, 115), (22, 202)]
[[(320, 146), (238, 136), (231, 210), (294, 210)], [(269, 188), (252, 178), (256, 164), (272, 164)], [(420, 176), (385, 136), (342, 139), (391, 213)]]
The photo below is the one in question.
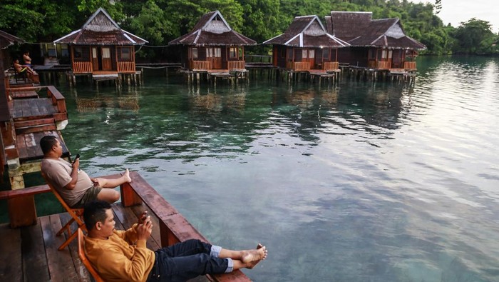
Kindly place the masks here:
[(169, 45), (191, 46), (247, 46), (256, 45), (249, 39), (230, 28), (220, 11), (210, 11), (201, 16), (192, 31), (170, 41)]

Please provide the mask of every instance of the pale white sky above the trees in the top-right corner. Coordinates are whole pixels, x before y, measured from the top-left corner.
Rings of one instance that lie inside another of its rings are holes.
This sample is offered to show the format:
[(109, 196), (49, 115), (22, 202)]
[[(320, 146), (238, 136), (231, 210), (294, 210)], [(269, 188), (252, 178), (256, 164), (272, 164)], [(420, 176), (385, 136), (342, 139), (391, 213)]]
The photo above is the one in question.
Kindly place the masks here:
[[(410, 1), (435, 3), (434, 0)], [(451, 23), (454, 27), (471, 18), (488, 21), (492, 25), (493, 33), (499, 32), (499, 0), (442, 0), (442, 9), (437, 16), (442, 19), (444, 25)]]

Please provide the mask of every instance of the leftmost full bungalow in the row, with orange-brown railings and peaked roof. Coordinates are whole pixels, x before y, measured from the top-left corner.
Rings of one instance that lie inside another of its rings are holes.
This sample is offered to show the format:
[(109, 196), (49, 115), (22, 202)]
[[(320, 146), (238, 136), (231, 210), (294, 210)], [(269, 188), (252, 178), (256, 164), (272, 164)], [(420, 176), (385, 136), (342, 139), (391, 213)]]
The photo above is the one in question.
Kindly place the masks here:
[(53, 41), (68, 44), (71, 56), (71, 81), (75, 75), (91, 76), (94, 81), (118, 80), (120, 76), (135, 74), (135, 46), (148, 41), (125, 31), (116, 24), (106, 10), (99, 8), (76, 31)]

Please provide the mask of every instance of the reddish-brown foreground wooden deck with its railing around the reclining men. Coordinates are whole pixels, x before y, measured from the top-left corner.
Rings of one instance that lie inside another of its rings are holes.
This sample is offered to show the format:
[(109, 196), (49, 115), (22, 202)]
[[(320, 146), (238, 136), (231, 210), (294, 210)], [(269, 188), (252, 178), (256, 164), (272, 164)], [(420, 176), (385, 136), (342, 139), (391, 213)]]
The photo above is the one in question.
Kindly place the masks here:
[[(103, 176), (116, 178), (119, 175)], [(137, 223), (138, 216), (148, 211), (153, 219), (153, 233), (147, 242), (148, 248), (156, 250), (162, 246), (196, 238), (209, 242), (168, 201), (158, 194), (139, 173), (130, 172), (132, 182), (120, 187), (121, 203), (114, 203), (116, 228), (125, 230)], [(40, 175), (41, 178), (41, 175)], [(1, 191), (0, 200), (12, 200), (33, 196), (35, 193), (50, 193), (46, 185), (14, 191)], [(33, 203), (34, 205), (34, 203)], [(10, 211), (23, 213), (31, 211)], [(68, 221), (68, 213), (58, 213), (36, 218), (34, 224), (10, 228), (8, 223), (0, 225), (1, 281), (92, 281), (90, 274), (78, 258), (77, 241), (58, 251), (66, 240), (66, 234), (56, 236), (57, 231)], [(73, 226), (73, 228), (76, 228)], [(236, 281), (247, 282), (249, 278), (237, 270), (232, 273), (200, 276), (192, 281)]]

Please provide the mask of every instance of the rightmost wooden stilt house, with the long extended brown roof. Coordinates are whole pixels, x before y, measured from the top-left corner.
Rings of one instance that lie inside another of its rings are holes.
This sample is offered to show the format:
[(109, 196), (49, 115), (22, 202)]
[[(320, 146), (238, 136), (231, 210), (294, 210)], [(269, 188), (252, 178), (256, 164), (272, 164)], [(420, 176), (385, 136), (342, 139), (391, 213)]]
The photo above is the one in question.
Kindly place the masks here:
[(331, 11), (327, 31), (351, 46), (339, 51), (339, 62), (377, 70), (416, 69), (424, 44), (406, 36), (400, 19), (372, 19), (371, 12)]

